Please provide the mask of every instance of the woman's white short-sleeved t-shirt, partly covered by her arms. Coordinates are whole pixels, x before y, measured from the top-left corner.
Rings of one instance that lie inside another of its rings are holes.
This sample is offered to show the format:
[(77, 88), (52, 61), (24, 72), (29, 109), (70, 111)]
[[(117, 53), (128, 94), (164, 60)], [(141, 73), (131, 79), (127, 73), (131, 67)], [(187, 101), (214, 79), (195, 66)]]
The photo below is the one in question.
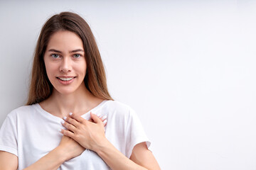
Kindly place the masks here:
[[(107, 115), (105, 136), (126, 157), (131, 156), (133, 147), (140, 142), (146, 142), (149, 147), (150, 142), (142, 124), (129, 106), (105, 100), (91, 111)], [(90, 111), (81, 116), (89, 120)], [(58, 130), (64, 128), (61, 120), (44, 111), (38, 103), (16, 108), (7, 115), (1, 126), (0, 150), (15, 154), (18, 157), (18, 169), (24, 169), (58, 147), (63, 136)], [(85, 149), (80, 156), (64, 162), (60, 169), (98, 170), (110, 167), (97, 153)]]

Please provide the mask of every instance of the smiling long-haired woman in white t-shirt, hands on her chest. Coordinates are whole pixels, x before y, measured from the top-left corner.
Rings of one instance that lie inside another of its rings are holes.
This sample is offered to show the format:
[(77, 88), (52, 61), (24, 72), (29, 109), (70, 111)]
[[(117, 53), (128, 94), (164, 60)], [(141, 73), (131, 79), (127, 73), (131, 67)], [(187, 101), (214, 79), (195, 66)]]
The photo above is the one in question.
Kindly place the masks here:
[(160, 169), (136, 113), (114, 101), (90, 27), (77, 14), (41, 30), (27, 106), (0, 130), (0, 169)]

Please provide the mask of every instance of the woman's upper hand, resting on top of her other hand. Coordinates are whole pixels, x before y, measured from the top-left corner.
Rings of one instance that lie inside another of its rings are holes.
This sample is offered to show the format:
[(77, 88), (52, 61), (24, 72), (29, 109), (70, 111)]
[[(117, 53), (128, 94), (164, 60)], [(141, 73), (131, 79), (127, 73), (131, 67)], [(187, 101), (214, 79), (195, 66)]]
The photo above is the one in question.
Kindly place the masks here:
[(107, 121), (105, 117), (98, 118), (97, 115), (92, 113), (90, 113), (90, 116), (93, 122), (85, 120), (80, 115), (75, 115), (75, 113), (69, 115), (68, 118), (64, 117), (63, 126), (68, 130), (61, 130), (61, 132), (80, 143), (85, 149), (95, 151), (102, 142), (107, 140), (104, 129)]

